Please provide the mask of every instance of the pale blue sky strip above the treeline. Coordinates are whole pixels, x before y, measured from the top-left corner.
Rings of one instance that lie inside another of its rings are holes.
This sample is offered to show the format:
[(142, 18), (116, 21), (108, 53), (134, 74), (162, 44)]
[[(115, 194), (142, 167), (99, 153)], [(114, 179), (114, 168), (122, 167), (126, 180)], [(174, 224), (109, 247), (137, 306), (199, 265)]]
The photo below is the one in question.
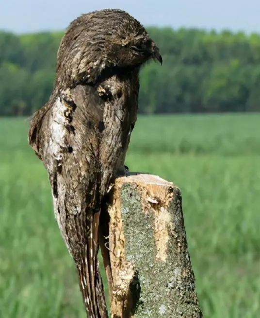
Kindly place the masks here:
[(260, 33), (260, 0), (0, 0), (0, 29), (64, 30), (82, 13), (104, 8), (126, 10), (145, 26)]

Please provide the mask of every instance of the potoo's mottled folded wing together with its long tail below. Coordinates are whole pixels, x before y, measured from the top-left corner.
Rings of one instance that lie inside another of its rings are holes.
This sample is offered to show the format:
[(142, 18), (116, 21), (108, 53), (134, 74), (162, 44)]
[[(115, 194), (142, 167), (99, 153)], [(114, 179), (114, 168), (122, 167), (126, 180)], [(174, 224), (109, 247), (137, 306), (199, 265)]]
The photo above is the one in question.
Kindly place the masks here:
[(97, 262), (103, 102), (90, 86), (67, 90), (50, 101), (33, 117), (29, 140), (48, 171), (55, 216), (77, 264), (87, 312), (106, 318)]

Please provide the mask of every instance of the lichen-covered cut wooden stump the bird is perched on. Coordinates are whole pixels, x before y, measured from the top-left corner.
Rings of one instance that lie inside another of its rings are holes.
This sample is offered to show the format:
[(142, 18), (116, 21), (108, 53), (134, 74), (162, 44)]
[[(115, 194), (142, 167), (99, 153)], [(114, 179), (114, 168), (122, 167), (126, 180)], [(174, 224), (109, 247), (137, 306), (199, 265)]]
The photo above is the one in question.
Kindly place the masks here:
[(148, 174), (117, 178), (108, 212), (111, 317), (202, 317), (179, 188)]

